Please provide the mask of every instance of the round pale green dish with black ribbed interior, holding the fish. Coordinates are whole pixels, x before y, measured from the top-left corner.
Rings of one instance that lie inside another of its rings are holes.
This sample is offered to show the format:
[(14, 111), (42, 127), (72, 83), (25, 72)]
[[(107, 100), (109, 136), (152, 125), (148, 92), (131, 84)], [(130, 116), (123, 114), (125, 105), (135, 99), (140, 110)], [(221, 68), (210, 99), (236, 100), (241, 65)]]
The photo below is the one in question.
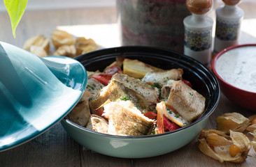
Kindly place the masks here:
[[(145, 158), (166, 154), (183, 147), (196, 138), (201, 129), (204, 129), (219, 101), (220, 88), (213, 74), (204, 65), (188, 56), (152, 47), (101, 49), (78, 56), (76, 59), (85, 65), (88, 71), (103, 70), (104, 67), (115, 61), (115, 57), (119, 54), (125, 54), (126, 58), (138, 59), (164, 69), (183, 68), (183, 78), (190, 81), (193, 88), (206, 97), (204, 114), (191, 125), (157, 135), (113, 136), (100, 134), (64, 118), (62, 125), (66, 132), (85, 148), (122, 158)], [(152, 145), (154, 145), (153, 150)]]

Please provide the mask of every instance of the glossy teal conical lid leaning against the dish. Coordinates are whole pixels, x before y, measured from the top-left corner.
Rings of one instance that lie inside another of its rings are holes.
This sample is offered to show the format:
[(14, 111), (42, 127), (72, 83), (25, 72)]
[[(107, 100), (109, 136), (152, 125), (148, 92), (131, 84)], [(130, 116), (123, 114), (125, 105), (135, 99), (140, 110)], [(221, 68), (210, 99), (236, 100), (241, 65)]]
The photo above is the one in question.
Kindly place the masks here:
[(0, 42), (0, 151), (42, 134), (83, 95), (85, 67), (63, 56), (39, 58)]

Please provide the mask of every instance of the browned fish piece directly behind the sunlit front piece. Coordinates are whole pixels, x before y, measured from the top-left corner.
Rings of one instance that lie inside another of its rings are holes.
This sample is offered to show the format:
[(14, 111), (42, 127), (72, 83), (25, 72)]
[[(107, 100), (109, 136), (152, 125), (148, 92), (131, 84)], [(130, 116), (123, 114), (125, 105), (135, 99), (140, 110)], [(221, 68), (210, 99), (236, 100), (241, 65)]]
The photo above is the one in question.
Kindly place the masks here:
[(95, 110), (98, 109), (107, 100), (115, 102), (120, 99), (131, 101), (131, 103), (136, 106), (141, 111), (141, 113), (145, 113), (146, 111), (148, 111), (148, 108), (150, 106), (150, 102), (145, 100), (145, 97), (143, 97), (143, 95), (125, 87), (120, 82), (112, 79), (108, 86), (104, 87), (100, 91), (99, 97), (97, 97), (97, 99), (95, 100), (90, 101), (90, 109), (92, 113), (97, 114)]

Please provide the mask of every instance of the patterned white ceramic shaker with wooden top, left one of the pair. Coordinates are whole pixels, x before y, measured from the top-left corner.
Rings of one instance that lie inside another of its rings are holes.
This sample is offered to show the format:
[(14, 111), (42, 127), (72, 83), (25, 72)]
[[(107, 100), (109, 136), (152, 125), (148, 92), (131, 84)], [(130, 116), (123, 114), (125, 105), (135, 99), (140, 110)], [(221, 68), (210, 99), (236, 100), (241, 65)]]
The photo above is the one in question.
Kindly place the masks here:
[(213, 19), (206, 16), (211, 10), (211, 0), (187, 0), (187, 9), (192, 15), (185, 17), (184, 54), (204, 65), (211, 61)]

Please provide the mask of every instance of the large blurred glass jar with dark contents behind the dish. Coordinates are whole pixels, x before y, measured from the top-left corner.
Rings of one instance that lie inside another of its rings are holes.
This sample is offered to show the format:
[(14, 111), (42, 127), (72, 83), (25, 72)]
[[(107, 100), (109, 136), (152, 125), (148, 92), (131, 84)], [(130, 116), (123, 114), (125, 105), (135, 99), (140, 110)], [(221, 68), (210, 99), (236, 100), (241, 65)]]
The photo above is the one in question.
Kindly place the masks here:
[(186, 0), (117, 0), (122, 45), (162, 47), (183, 53)]

